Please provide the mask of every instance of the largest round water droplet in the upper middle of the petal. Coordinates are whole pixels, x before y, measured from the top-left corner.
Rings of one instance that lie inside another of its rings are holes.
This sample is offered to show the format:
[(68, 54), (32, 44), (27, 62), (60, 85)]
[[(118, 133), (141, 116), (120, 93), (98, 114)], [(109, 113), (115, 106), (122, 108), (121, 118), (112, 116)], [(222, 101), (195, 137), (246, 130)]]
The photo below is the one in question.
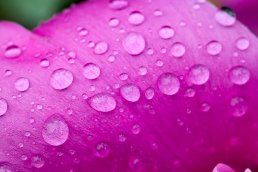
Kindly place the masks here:
[(145, 40), (140, 33), (130, 31), (124, 35), (122, 46), (128, 54), (139, 55), (145, 49)]

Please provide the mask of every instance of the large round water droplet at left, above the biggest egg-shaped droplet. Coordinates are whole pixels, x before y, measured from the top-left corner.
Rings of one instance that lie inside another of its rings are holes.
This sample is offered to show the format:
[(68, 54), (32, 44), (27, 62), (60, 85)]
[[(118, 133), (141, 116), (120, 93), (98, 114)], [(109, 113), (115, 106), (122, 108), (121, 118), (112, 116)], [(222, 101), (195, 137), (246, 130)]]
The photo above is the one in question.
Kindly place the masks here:
[(70, 86), (73, 82), (73, 74), (67, 69), (57, 69), (52, 72), (50, 84), (53, 88), (61, 90)]

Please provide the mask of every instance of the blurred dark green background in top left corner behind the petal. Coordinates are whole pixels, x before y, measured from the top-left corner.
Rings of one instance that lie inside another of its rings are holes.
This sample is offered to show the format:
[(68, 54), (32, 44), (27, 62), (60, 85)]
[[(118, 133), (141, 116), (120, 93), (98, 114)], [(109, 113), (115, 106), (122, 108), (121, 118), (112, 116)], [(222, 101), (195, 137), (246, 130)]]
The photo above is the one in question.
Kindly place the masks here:
[(0, 0), (0, 20), (14, 21), (33, 29), (40, 21), (46, 21), (71, 3), (80, 1), (83, 0)]

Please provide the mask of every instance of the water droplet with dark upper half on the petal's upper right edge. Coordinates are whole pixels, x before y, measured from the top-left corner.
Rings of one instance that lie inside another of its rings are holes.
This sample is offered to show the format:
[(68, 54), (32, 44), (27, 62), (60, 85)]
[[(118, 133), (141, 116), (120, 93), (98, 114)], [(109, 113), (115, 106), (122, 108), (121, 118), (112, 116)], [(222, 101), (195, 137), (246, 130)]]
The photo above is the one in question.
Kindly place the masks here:
[(222, 7), (215, 13), (216, 21), (225, 27), (230, 27), (235, 24), (236, 17), (235, 13), (227, 7)]

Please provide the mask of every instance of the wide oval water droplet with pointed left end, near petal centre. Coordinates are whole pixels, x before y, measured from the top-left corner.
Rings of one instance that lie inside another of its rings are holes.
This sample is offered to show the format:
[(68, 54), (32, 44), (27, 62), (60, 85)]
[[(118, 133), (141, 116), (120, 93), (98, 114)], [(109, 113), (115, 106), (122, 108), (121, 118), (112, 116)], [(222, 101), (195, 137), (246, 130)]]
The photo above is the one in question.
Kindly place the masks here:
[(96, 111), (110, 112), (116, 107), (115, 98), (109, 93), (98, 93), (88, 98), (88, 104)]

